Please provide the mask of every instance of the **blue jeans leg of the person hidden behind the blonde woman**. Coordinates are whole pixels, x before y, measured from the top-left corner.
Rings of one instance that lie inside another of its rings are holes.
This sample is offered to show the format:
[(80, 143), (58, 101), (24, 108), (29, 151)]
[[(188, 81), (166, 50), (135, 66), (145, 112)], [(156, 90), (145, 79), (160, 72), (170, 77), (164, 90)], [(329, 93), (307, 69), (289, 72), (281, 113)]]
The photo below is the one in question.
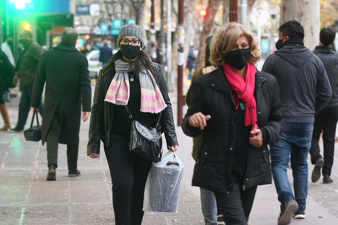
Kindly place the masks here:
[(202, 214), (206, 225), (217, 225), (217, 204), (214, 192), (200, 188)]

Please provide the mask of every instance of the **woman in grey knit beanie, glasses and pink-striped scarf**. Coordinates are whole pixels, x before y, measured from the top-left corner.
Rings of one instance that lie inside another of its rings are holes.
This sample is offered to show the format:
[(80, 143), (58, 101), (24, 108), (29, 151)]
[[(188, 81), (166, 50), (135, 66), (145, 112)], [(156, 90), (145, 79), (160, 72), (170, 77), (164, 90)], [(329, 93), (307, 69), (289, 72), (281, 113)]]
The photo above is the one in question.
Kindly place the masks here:
[[(100, 140), (112, 177), (116, 224), (141, 225), (143, 198), (152, 161), (129, 151), (132, 117), (155, 127), (161, 112), (168, 150), (178, 148), (167, 85), (159, 64), (143, 51), (143, 31), (135, 24), (124, 25), (117, 40), (119, 51), (103, 68), (95, 86), (87, 154), (100, 156)], [(150, 98), (154, 96), (154, 98)]]

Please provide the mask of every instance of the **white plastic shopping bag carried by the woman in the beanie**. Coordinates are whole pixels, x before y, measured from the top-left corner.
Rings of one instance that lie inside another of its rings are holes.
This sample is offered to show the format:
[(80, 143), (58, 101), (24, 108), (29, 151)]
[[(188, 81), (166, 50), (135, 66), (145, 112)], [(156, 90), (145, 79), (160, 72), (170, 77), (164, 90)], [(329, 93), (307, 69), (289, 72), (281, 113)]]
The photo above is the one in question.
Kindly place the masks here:
[(168, 151), (158, 163), (153, 163), (144, 190), (143, 211), (177, 213), (183, 179), (182, 161)]

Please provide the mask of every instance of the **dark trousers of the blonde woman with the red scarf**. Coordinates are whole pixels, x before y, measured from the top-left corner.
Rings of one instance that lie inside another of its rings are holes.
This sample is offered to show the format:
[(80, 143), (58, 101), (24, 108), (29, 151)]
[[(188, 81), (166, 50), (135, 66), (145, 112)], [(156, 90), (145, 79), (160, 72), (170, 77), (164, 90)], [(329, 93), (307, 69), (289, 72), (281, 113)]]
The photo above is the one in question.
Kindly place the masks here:
[(233, 183), (233, 191), (215, 192), (217, 205), (223, 212), (226, 225), (247, 225), (257, 186), (243, 191), (242, 186)]

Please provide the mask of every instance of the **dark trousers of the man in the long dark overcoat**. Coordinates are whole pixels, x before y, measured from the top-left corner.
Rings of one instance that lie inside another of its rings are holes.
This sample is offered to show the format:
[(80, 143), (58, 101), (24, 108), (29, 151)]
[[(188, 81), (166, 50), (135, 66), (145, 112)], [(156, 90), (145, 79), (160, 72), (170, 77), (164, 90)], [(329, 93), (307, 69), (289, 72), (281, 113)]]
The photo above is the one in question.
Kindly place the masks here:
[[(61, 133), (61, 123), (59, 115), (54, 114), (50, 123), (47, 134), (47, 161), (48, 167), (54, 164), (57, 167), (57, 150), (59, 145), (59, 136)], [(79, 144), (67, 145), (67, 164), (68, 170), (74, 171), (77, 169), (77, 155), (79, 152)]]

